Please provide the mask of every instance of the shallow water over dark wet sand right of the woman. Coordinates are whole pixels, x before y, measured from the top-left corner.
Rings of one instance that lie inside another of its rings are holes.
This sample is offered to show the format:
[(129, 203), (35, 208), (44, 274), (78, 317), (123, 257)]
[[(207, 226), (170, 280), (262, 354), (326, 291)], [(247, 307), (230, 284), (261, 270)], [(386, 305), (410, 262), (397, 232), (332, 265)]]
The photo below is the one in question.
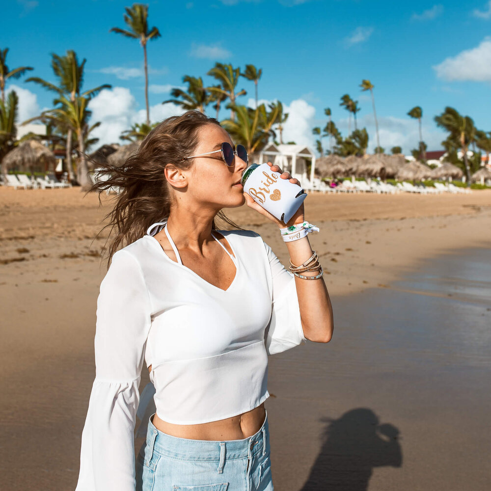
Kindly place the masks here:
[(490, 490), (491, 248), (331, 301), (329, 343), (270, 357), (275, 486)]

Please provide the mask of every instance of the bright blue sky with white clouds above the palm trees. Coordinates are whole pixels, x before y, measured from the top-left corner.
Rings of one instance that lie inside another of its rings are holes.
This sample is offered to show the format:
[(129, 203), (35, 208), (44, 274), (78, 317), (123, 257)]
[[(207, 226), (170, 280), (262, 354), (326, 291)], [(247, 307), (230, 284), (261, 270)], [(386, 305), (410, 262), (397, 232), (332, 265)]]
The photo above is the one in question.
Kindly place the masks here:
[[(343, 94), (358, 101), (358, 127), (376, 145), (372, 100), (359, 87), (374, 85), (381, 146), (416, 148), (417, 120), (407, 113), (423, 109), (423, 139), (441, 149), (446, 134), (435, 115), (446, 106), (491, 131), (491, 1), (468, 0), (178, 0), (149, 1), (149, 26), (162, 36), (148, 45), (151, 120), (183, 112), (170, 98), (184, 75), (218, 83), (207, 72), (215, 62), (262, 69), (260, 101), (279, 100), (289, 113), (285, 141), (315, 149), (315, 126), (327, 122), (325, 108), (344, 136), (348, 112)], [(131, 2), (12, 0), (2, 6), (0, 48), (9, 48), (10, 68), (32, 66), (28, 76), (55, 82), (51, 54), (74, 50), (86, 58), (84, 89), (104, 83), (89, 105), (99, 143), (119, 142), (121, 131), (145, 119), (143, 50), (138, 41), (109, 32), (125, 28), (124, 7)], [(5, 22), (9, 19), (9, 22)], [(53, 94), (27, 77), (10, 79), (7, 90), (20, 98), (20, 121), (52, 107)], [(254, 105), (254, 84), (244, 77), (238, 103)], [(209, 115), (216, 111), (209, 106)], [(227, 117), (222, 109), (219, 118)], [(351, 130), (354, 129), (353, 121)], [(328, 146), (327, 139), (324, 140)]]

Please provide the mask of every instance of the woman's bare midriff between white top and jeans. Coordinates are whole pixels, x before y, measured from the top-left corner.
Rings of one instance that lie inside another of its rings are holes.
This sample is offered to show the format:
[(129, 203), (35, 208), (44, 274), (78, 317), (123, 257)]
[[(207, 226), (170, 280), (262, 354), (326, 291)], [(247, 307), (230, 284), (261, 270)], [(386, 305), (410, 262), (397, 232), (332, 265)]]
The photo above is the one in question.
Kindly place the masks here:
[[(152, 365), (148, 367), (152, 371)], [(231, 418), (210, 421), (198, 425), (176, 425), (167, 423), (153, 415), (152, 423), (163, 433), (179, 438), (192, 438), (194, 440), (242, 440), (257, 433), (264, 423), (266, 410), (264, 402), (257, 408)]]

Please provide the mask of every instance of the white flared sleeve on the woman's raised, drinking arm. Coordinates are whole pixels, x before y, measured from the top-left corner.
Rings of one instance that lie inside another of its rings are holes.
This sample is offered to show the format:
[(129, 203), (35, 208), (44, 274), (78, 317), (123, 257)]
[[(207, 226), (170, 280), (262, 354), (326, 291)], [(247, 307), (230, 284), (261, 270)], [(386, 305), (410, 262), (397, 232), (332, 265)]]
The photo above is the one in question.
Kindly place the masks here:
[(307, 338), (303, 334), (300, 319), (295, 276), (280, 263), (272, 248), (264, 241), (263, 244), (269, 259), (273, 284), (272, 313), (265, 330), (265, 345), (267, 354), (275, 355), (295, 348)]

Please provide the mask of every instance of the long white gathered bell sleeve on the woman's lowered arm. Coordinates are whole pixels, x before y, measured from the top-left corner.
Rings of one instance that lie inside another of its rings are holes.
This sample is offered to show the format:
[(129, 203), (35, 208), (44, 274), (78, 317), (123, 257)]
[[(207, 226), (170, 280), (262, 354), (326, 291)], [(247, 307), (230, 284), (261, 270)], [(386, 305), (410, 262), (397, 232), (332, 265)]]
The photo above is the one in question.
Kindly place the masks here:
[(121, 249), (101, 282), (96, 375), (82, 430), (75, 491), (134, 491), (134, 429), (151, 306), (136, 258)]

